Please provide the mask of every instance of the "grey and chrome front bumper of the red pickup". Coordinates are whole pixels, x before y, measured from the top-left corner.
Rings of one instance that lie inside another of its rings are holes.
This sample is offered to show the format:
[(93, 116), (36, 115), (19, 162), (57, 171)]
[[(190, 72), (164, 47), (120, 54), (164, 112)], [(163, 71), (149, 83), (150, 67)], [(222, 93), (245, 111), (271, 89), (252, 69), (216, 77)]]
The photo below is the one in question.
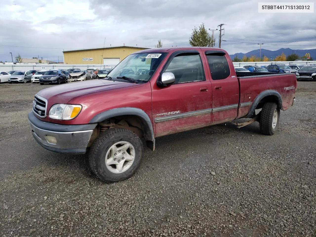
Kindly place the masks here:
[[(27, 115), (34, 139), (43, 148), (58, 152), (83, 154), (86, 153), (91, 135), (97, 124), (61, 125), (44, 122), (33, 112)], [(48, 142), (50, 137), (56, 138), (56, 143)]]

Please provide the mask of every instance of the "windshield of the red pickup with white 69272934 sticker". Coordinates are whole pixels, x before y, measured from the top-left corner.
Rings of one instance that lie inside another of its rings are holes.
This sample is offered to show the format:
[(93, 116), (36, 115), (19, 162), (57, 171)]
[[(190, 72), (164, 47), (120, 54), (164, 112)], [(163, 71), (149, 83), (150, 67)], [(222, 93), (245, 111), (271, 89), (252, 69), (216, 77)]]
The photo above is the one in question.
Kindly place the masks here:
[[(110, 71), (107, 76), (126, 76), (137, 82), (148, 82), (166, 54), (167, 53), (131, 54)], [(119, 81), (128, 82), (124, 79), (119, 79)]]

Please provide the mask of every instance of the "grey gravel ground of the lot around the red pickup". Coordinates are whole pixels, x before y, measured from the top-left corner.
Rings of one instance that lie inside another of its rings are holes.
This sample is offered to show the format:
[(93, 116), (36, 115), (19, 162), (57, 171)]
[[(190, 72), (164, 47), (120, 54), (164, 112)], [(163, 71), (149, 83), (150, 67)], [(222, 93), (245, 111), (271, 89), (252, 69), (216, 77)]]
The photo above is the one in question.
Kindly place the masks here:
[(46, 87), (0, 85), (1, 236), (316, 235), (316, 82), (298, 82), (274, 136), (256, 122), (158, 138), (114, 184), (34, 141), (27, 113)]

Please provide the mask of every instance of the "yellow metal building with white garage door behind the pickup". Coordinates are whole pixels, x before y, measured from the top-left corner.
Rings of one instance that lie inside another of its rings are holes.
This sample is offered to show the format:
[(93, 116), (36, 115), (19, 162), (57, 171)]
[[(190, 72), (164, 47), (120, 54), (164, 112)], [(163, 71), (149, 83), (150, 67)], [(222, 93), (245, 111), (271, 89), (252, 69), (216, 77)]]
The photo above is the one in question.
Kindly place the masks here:
[[(131, 53), (148, 48), (131, 46), (113, 46), (80, 50), (67, 50), (64, 53), (65, 64), (103, 64), (117, 65)], [(102, 56), (103, 55), (103, 56)]]

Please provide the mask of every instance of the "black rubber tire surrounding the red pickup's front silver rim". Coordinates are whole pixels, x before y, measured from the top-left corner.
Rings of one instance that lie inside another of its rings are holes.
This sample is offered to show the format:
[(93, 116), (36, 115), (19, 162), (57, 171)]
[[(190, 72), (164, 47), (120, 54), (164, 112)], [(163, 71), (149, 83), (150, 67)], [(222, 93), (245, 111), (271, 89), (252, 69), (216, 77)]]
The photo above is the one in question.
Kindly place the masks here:
[[(124, 172), (113, 173), (106, 166), (106, 154), (114, 144), (119, 142), (130, 143), (134, 148), (135, 158)], [(143, 149), (143, 143), (135, 133), (123, 128), (112, 128), (104, 131), (94, 140), (89, 151), (89, 165), (92, 172), (105, 182), (122, 181), (130, 178), (140, 166)]]

